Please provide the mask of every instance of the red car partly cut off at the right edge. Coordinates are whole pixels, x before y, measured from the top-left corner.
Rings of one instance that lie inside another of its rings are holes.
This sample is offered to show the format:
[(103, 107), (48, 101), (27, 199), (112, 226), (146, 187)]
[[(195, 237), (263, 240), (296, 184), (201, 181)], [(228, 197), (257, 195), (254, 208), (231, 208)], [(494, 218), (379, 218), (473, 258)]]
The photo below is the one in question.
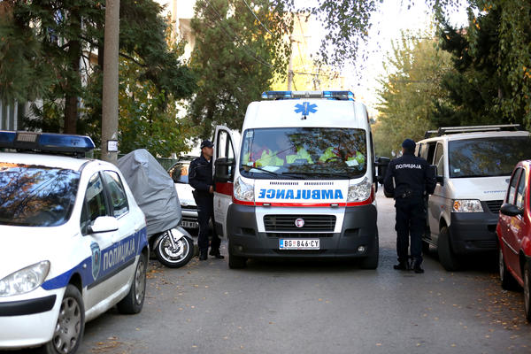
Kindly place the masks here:
[(520, 161), (514, 171), (496, 226), (502, 288), (524, 288), (527, 321), (531, 322), (531, 160)]

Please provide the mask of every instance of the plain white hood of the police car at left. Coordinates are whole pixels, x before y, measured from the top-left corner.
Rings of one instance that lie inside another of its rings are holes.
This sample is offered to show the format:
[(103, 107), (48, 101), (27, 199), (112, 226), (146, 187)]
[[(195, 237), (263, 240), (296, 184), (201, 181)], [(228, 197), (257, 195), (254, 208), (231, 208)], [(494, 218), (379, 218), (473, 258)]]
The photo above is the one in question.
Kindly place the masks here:
[(53, 267), (57, 257), (68, 257), (70, 234), (61, 227), (0, 226), (0, 279), (42, 260)]

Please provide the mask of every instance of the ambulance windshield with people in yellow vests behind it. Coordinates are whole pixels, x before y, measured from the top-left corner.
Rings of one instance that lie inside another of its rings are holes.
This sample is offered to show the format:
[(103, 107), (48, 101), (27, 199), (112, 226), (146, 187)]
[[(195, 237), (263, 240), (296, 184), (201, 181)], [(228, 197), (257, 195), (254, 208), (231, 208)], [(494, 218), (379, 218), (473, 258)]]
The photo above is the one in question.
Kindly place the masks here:
[(366, 149), (363, 129), (248, 129), (243, 133), (240, 173), (256, 179), (352, 179), (366, 173)]

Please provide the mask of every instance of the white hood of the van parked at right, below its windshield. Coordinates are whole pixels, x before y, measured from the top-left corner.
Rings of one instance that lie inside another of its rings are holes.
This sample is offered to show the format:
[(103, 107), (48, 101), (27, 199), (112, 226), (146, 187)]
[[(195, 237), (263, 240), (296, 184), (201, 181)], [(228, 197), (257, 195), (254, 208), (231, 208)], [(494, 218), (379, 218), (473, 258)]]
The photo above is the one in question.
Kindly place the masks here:
[(510, 176), (452, 178), (449, 189), (452, 199), (502, 200), (505, 197)]

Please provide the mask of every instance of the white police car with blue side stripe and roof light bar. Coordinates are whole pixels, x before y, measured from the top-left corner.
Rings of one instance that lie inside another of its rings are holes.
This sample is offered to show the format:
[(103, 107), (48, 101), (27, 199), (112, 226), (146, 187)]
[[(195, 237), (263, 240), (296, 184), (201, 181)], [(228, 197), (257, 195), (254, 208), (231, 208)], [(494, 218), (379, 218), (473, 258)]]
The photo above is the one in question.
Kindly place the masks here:
[[(73, 353), (85, 322), (142, 310), (144, 215), (87, 136), (0, 131), (0, 349)], [(59, 155), (73, 155), (59, 156)]]

